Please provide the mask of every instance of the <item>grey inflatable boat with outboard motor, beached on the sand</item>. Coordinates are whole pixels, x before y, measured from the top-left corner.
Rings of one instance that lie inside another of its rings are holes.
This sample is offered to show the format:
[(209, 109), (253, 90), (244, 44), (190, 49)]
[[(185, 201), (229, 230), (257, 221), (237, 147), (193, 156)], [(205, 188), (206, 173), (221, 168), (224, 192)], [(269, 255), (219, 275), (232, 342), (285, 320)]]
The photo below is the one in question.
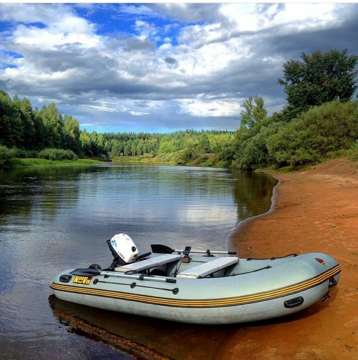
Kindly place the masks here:
[(107, 240), (109, 267), (67, 269), (50, 280), (62, 300), (130, 314), (199, 324), (283, 316), (329, 298), (340, 276), (320, 252), (266, 259), (235, 252), (151, 245), (139, 253), (126, 234)]

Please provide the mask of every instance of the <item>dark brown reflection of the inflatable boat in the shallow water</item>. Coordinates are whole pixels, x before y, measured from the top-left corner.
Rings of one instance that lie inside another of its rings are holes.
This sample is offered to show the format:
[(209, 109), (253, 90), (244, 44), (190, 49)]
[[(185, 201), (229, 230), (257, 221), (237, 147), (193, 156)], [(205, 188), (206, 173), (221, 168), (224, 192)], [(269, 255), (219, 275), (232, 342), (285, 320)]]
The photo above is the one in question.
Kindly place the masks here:
[(214, 358), (234, 325), (201, 326), (113, 313), (48, 298), (53, 315), (71, 332), (135, 358)]

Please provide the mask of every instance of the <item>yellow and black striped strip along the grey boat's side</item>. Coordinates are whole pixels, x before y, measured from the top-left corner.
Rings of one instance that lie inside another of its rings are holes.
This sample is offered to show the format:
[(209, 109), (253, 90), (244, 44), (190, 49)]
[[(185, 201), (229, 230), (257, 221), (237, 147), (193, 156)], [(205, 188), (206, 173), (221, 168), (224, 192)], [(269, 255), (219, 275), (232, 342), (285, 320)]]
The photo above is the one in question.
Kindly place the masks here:
[(237, 297), (226, 297), (226, 298), (215, 298), (215, 299), (174, 299), (157, 296), (139, 295), (134, 293), (111, 291), (103, 289), (95, 289), (84, 286), (65, 285), (52, 282), (50, 287), (57, 291), (66, 291), (94, 296), (111, 297), (120, 300), (127, 301), (138, 301), (143, 303), (162, 305), (162, 306), (175, 306), (175, 307), (223, 307), (223, 306), (235, 306), (241, 304), (247, 304), (252, 302), (267, 301), (277, 297), (291, 295), (300, 291), (307, 290), (311, 287), (318, 286), (324, 281), (330, 279), (332, 276), (340, 272), (339, 265), (332, 267), (331, 269), (321, 273), (320, 275), (314, 276), (308, 280), (298, 282), (289, 286), (278, 288), (275, 290), (254, 293), (250, 295), (237, 296)]

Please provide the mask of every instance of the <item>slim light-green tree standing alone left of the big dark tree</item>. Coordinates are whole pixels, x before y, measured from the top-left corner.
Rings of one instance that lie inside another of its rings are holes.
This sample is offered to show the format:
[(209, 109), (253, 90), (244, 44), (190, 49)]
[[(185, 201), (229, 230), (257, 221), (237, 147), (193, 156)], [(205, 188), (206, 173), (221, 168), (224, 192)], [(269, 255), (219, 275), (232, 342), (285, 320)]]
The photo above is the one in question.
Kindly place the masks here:
[(267, 116), (267, 110), (263, 107), (264, 101), (261, 96), (249, 96), (242, 104), (244, 110), (240, 112), (240, 127), (251, 128), (260, 124)]

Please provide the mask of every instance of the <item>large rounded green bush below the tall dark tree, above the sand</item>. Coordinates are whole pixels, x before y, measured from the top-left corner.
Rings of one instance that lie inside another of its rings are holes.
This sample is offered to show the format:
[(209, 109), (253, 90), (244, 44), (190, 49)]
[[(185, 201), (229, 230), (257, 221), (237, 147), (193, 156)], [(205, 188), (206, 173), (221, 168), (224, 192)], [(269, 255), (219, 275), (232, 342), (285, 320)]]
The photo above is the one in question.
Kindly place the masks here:
[(267, 138), (278, 165), (316, 163), (327, 153), (348, 149), (358, 138), (358, 101), (315, 106)]

